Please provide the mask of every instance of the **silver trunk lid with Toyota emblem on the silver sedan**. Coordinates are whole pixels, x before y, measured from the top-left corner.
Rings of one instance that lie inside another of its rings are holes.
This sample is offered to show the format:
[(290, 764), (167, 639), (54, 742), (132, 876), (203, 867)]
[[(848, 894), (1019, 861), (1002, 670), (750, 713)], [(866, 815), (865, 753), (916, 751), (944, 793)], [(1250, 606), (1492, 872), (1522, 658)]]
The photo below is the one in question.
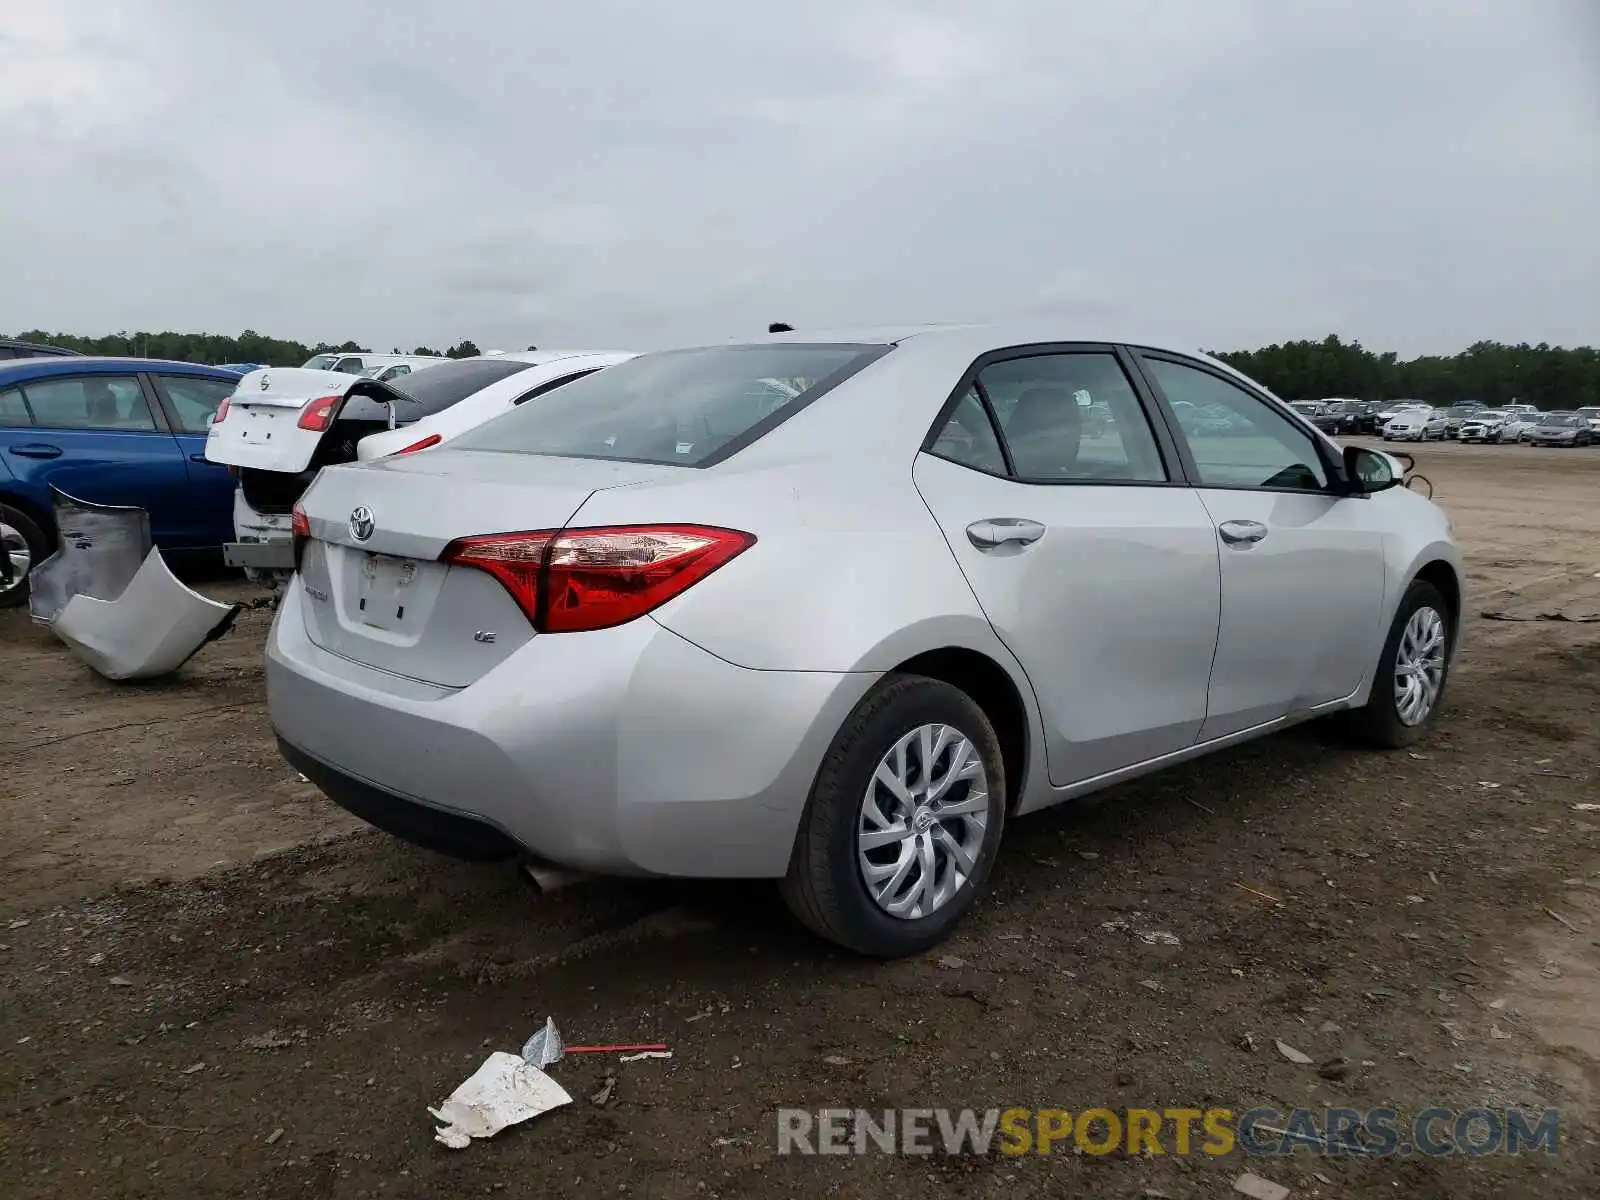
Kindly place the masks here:
[(450, 542), (560, 530), (595, 491), (683, 470), (448, 448), (326, 467), (302, 499), (312, 534), (301, 560), (307, 634), (355, 662), (464, 688), (534, 630), (493, 576), (438, 562)]

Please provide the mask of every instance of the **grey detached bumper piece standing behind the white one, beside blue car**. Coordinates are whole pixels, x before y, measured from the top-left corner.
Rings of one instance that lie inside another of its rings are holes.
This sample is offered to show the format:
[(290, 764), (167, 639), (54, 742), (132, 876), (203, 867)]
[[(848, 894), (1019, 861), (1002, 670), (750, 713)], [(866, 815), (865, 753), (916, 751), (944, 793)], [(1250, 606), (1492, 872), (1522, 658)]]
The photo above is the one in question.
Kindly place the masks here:
[(51, 488), (61, 549), (27, 576), (27, 611), (53, 626), (75, 595), (114, 600), (150, 557), (150, 517), (144, 509), (91, 504)]

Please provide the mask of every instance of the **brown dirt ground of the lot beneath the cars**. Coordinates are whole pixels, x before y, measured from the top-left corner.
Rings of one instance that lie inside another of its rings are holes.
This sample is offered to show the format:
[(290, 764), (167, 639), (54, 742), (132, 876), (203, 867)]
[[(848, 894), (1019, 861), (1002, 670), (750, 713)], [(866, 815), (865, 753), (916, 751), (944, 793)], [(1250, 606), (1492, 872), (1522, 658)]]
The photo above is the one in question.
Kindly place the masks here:
[[(1421, 746), (1309, 726), (1022, 819), (890, 965), (765, 886), (539, 896), (360, 827), (277, 757), (262, 611), (142, 688), (0, 614), (0, 1195), (1600, 1195), (1600, 451), (1416, 458), (1474, 589)], [(570, 1107), (434, 1144), (546, 1014), (674, 1056), (570, 1058)], [(779, 1107), (1258, 1104), (1557, 1107), (1560, 1152), (774, 1152)]]

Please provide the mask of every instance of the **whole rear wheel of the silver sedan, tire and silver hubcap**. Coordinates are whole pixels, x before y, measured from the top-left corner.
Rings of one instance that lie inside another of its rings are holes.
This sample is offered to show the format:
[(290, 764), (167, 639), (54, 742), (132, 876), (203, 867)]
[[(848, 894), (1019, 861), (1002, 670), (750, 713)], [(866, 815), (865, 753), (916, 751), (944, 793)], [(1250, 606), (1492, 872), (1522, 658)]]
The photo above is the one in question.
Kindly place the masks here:
[(891, 675), (834, 738), (781, 890), (813, 931), (894, 958), (934, 946), (976, 902), (1005, 824), (1005, 762), (973, 699)]

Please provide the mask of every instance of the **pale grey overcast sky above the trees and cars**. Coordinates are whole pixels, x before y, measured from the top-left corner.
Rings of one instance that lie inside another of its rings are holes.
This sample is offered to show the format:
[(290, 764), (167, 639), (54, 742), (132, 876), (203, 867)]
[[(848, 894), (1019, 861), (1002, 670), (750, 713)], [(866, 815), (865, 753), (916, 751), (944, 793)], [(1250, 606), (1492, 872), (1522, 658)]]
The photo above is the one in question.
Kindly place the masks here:
[(1600, 344), (1600, 0), (0, 0), (0, 331)]

